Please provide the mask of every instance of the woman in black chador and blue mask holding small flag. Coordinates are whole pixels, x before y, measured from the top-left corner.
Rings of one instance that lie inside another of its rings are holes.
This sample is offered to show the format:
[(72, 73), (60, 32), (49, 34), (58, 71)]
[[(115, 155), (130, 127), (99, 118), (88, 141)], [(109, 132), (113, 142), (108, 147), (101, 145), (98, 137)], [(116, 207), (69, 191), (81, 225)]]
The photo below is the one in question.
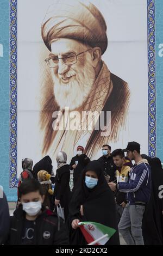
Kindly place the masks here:
[(86, 245), (78, 227), (80, 221), (98, 222), (116, 229), (106, 245), (119, 245), (114, 196), (105, 180), (99, 161), (87, 164), (69, 205), (70, 244)]

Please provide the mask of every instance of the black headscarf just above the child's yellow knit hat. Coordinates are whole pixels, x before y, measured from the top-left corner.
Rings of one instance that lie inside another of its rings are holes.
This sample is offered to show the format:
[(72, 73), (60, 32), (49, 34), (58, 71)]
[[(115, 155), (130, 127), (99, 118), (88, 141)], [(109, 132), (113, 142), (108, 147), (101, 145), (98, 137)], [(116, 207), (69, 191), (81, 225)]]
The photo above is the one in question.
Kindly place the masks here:
[(52, 159), (49, 156), (43, 157), (39, 162), (33, 167), (34, 178), (37, 179), (37, 173), (39, 170), (46, 170), (49, 174), (52, 174)]

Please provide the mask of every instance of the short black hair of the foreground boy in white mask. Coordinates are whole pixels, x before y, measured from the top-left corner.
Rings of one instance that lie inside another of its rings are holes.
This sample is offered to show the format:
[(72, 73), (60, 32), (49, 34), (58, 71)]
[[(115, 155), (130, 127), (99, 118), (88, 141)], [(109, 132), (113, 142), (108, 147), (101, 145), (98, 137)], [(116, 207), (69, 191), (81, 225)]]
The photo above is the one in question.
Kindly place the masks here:
[(43, 196), (42, 186), (39, 181), (35, 179), (26, 179), (22, 182), (18, 188), (18, 194), (21, 198), (22, 194), (28, 194), (30, 192), (39, 191), (40, 195)]

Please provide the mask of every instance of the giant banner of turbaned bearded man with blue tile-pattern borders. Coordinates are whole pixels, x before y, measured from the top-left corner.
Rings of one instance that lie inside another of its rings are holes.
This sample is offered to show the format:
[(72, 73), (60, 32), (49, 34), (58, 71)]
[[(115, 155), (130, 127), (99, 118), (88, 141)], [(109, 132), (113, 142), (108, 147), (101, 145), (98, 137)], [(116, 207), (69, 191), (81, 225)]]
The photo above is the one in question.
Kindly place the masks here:
[(91, 160), (129, 141), (162, 152), (161, 0), (2, 0), (1, 182), (8, 200), (25, 157)]

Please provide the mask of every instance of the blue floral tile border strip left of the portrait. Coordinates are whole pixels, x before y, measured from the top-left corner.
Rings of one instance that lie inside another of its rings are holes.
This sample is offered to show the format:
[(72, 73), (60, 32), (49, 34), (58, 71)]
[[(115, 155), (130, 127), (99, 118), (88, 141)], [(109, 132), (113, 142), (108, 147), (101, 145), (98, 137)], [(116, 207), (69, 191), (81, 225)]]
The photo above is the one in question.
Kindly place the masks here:
[(10, 0), (10, 174), (9, 188), (17, 188), (17, 0)]

